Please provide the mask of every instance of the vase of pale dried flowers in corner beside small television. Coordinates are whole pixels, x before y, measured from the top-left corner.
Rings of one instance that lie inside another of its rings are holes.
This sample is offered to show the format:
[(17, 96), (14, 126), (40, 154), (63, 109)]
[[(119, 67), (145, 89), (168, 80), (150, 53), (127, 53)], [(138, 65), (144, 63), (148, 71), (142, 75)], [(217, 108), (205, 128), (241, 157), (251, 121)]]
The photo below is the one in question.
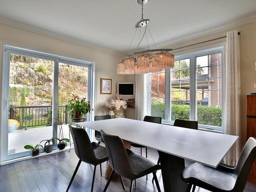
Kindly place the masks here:
[(112, 99), (110, 102), (104, 104), (105, 108), (108, 108), (109, 114), (113, 118), (124, 117), (124, 110), (127, 109), (127, 102), (117, 96), (117, 99)]

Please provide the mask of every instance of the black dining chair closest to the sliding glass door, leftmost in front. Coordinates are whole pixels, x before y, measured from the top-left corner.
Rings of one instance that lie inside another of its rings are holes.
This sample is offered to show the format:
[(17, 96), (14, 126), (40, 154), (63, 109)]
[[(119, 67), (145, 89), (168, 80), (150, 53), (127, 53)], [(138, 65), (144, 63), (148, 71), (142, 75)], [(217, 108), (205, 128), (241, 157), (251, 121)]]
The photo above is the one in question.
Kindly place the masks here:
[(69, 190), (82, 161), (94, 165), (93, 180), (91, 187), (91, 191), (93, 191), (96, 166), (100, 165), (100, 175), (102, 176), (101, 163), (108, 160), (106, 148), (98, 145), (95, 142), (91, 143), (89, 136), (87, 135), (87, 132), (84, 129), (76, 128), (72, 125), (69, 125), (69, 130), (74, 141), (75, 153), (79, 158), (79, 161), (66, 191)]

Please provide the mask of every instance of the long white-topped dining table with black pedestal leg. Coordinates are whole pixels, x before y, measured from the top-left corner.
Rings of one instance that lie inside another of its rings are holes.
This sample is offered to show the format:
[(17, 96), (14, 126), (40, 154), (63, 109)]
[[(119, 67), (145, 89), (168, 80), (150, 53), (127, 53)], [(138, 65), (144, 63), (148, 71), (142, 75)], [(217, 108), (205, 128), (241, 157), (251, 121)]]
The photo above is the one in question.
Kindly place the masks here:
[(166, 124), (126, 118), (106, 119), (77, 123), (123, 140), (141, 144), (158, 151), (164, 191), (186, 191), (180, 174), (185, 168), (184, 159), (217, 167), (237, 136), (186, 129)]

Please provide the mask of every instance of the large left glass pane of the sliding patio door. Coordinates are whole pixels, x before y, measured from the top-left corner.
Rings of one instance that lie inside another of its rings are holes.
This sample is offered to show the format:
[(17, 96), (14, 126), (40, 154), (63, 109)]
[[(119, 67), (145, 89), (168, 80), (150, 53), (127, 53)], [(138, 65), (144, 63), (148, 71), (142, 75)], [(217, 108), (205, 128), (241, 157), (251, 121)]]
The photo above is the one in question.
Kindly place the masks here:
[(8, 154), (51, 139), (54, 61), (10, 55)]

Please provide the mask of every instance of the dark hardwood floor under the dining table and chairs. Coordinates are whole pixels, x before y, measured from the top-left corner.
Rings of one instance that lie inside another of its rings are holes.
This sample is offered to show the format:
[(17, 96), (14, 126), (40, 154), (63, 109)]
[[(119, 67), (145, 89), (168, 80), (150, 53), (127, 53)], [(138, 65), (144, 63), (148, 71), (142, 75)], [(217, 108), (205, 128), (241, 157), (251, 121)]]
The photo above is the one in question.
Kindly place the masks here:
[[(140, 153), (139, 148), (132, 147), (136, 153)], [(143, 151), (143, 155), (145, 152)], [(148, 158), (157, 162), (158, 154), (155, 150), (148, 149)], [(30, 160), (20, 161), (0, 167), (0, 192), (7, 191), (66, 191), (71, 176), (78, 163), (78, 158), (74, 150), (38, 157)], [(102, 164), (102, 174), (104, 175), (106, 163)], [(69, 191), (90, 191), (93, 175), (93, 166), (81, 163), (76, 177)], [(157, 173), (161, 191), (163, 184), (161, 172)], [(152, 175), (138, 179), (138, 188), (134, 191), (157, 191), (155, 184), (152, 183)], [(126, 191), (129, 191), (130, 181), (123, 178)], [(99, 166), (97, 166), (94, 191), (101, 192), (106, 184), (104, 177), (100, 176)], [(122, 191), (122, 186), (117, 176), (114, 177), (107, 191)], [(205, 192), (206, 190), (197, 188), (196, 191)], [(247, 183), (246, 192), (256, 191), (256, 184)]]

